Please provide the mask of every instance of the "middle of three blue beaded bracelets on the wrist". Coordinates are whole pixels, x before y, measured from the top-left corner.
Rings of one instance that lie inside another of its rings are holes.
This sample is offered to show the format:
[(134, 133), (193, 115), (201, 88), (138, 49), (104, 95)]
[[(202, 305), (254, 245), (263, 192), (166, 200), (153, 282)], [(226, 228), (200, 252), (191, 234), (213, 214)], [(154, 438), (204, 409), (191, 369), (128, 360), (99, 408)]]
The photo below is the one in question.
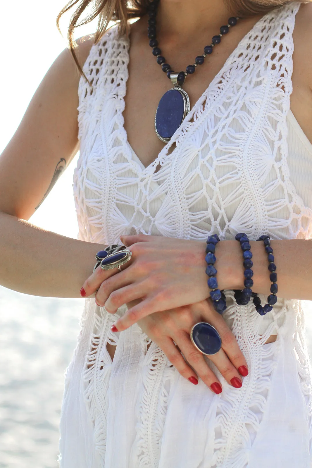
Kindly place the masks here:
[(251, 260), (253, 254), (250, 251), (250, 243), (247, 234), (236, 234), (235, 240), (240, 242), (240, 248), (243, 251), (245, 288), (242, 291), (239, 289), (234, 289), (234, 298), (239, 306), (247, 306), (253, 293), (251, 287), (254, 285), (254, 281), (251, 279), (254, 276), (254, 272), (251, 269), (253, 266), (253, 262)]

